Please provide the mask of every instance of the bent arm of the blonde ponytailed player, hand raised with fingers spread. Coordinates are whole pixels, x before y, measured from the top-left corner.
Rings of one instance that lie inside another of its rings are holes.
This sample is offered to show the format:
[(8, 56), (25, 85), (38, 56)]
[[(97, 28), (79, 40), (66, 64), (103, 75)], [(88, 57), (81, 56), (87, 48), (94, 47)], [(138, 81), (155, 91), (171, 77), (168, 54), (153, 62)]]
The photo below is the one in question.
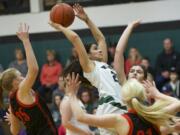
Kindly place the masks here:
[(78, 103), (78, 99), (76, 97), (76, 92), (80, 85), (80, 82), (78, 81), (78, 75), (75, 76), (74, 74), (72, 74), (72, 77), (70, 77), (70, 75), (68, 77), (69, 77), (69, 80), (67, 83), (67, 89), (70, 95), (71, 109), (75, 118), (78, 121), (82, 123), (86, 123), (88, 125), (103, 127), (103, 128), (116, 129), (116, 127), (118, 128), (120, 127), (117, 125), (119, 125), (120, 122), (123, 121), (123, 117), (121, 117), (121, 115), (108, 114), (108, 115), (103, 115), (103, 116), (95, 116), (95, 115), (85, 113), (80, 107)]

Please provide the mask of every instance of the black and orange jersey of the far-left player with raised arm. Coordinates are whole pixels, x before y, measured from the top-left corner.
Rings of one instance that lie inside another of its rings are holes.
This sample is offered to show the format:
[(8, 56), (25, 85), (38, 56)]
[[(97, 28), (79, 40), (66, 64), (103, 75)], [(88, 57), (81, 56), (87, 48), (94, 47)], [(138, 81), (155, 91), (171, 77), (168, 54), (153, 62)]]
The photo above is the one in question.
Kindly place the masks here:
[(17, 98), (17, 91), (10, 94), (12, 113), (23, 122), (27, 135), (58, 135), (51, 113), (46, 103), (35, 95), (36, 101), (25, 105)]

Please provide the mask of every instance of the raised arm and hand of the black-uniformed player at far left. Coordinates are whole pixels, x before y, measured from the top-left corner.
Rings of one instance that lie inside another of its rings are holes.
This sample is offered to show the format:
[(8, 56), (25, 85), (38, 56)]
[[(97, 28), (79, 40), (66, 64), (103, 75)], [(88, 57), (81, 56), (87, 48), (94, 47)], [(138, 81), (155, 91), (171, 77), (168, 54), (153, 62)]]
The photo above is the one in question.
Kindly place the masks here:
[(36, 80), (39, 67), (29, 40), (29, 26), (27, 24), (20, 24), (17, 36), (23, 43), (27, 58), (28, 72), (25, 79), (20, 83), (18, 91), (19, 96), (25, 96), (29, 94)]

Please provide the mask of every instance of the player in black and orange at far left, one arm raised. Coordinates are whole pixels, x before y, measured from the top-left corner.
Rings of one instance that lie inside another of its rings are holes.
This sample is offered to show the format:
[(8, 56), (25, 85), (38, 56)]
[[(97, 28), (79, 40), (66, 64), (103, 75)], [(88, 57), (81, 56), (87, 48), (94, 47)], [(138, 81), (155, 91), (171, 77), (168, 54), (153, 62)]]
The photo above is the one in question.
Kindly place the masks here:
[(26, 52), (28, 65), (26, 77), (22, 77), (21, 73), (13, 68), (5, 70), (0, 76), (0, 88), (10, 93), (10, 108), (5, 118), (13, 135), (19, 133), (20, 122), (26, 127), (27, 135), (58, 135), (46, 103), (32, 90), (39, 67), (28, 31), (27, 24), (20, 24), (17, 32), (17, 37), (22, 41)]

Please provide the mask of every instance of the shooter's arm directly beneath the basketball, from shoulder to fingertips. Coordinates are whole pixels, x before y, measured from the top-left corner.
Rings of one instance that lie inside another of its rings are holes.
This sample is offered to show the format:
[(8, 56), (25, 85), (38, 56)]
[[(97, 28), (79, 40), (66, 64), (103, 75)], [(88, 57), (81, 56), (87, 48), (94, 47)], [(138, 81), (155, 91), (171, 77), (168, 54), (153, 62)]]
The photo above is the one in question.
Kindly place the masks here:
[(60, 24), (56, 24), (53, 22), (50, 22), (49, 24), (52, 27), (54, 27), (56, 30), (63, 32), (64, 35), (68, 38), (68, 40), (73, 44), (73, 46), (75, 47), (78, 53), (79, 61), (80, 61), (83, 71), (87, 73), (91, 72), (94, 68), (94, 64), (89, 59), (88, 54), (84, 48), (84, 45), (80, 37), (74, 31), (63, 27)]

